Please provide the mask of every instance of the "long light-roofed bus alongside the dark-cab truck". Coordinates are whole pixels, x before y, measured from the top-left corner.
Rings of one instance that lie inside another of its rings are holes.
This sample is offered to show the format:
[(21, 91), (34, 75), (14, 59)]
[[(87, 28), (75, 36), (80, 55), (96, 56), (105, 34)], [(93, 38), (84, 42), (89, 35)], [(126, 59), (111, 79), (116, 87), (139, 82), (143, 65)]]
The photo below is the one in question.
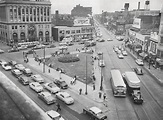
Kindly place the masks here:
[(126, 84), (118, 69), (111, 70), (111, 86), (115, 97), (126, 97)]

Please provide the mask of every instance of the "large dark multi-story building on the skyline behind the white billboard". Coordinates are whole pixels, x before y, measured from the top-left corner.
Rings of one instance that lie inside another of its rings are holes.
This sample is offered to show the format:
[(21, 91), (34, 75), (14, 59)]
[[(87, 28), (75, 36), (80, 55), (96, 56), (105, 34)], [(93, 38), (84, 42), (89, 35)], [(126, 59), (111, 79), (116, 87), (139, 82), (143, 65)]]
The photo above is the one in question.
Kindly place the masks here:
[(89, 15), (92, 15), (92, 7), (83, 7), (79, 4), (71, 10), (71, 16), (88, 17)]

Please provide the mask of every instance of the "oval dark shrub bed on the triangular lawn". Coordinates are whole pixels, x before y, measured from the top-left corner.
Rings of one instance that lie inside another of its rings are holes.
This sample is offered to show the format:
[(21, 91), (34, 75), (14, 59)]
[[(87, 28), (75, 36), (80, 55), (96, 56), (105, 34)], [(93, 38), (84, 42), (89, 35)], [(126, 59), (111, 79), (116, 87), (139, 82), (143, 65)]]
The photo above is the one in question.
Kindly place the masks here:
[(58, 58), (58, 61), (63, 62), (63, 63), (77, 62), (79, 60), (80, 59), (78, 57), (73, 56), (73, 55), (64, 55), (64, 56)]

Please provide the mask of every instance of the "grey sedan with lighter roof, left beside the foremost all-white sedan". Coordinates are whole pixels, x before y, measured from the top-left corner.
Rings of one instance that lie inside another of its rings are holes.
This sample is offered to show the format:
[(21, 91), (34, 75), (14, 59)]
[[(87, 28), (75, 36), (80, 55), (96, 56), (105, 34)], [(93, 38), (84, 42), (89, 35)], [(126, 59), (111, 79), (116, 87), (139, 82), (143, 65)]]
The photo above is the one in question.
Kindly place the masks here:
[(55, 97), (53, 97), (49, 92), (40, 92), (38, 93), (38, 97), (48, 105), (56, 102)]

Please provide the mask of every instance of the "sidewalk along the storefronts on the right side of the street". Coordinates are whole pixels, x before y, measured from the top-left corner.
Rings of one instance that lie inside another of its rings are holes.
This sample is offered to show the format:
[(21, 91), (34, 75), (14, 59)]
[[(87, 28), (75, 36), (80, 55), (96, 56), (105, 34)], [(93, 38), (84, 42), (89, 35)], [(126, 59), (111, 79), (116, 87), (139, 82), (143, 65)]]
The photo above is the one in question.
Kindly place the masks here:
[[(133, 52), (129, 50), (128, 47), (126, 47), (126, 51), (132, 55), (135, 59), (137, 58), (137, 55), (136, 54), (133, 54)], [(157, 80), (157, 82), (160, 84), (160, 85), (163, 85), (163, 71), (161, 71), (160, 69), (155, 69), (152, 65), (150, 66), (150, 69), (149, 69), (149, 64), (147, 62), (144, 63), (144, 66), (143, 68), (149, 73), (151, 74), (151, 76)]]

